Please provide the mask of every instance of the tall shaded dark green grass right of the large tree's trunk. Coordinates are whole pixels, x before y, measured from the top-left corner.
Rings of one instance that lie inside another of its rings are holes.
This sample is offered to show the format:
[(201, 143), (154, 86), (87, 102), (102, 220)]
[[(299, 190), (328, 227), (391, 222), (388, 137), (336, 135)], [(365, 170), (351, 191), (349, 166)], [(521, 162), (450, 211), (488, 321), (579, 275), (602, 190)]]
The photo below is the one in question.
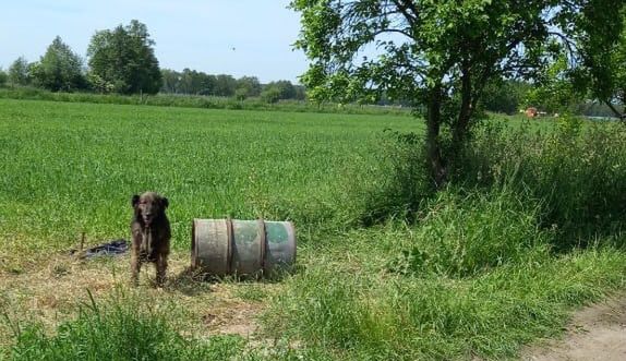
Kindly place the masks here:
[(470, 144), (457, 181), (507, 183), (542, 201), (541, 224), (558, 249), (624, 231), (626, 127), (562, 117), (549, 132), (491, 124)]

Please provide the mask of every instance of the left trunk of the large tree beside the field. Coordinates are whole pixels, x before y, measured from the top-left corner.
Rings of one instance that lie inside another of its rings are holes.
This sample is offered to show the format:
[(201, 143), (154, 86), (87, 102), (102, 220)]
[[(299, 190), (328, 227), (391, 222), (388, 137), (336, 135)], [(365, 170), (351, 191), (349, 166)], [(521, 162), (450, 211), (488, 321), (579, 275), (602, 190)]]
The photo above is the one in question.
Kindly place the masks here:
[(446, 168), (442, 159), (440, 128), (442, 122), (442, 86), (435, 85), (429, 94), (426, 115), (426, 158), (436, 188), (446, 182)]

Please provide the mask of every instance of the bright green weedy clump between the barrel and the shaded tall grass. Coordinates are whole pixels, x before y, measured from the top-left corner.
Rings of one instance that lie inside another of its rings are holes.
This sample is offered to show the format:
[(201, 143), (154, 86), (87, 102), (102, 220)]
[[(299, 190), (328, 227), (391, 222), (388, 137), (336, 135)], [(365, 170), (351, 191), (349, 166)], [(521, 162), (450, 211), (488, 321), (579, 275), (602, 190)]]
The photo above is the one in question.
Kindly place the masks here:
[(509, 190), (458, 195), (443, 192), (410, 244), (389, 268), (401, 274), (467, 277), (547, 254), (549, 231), (539, 225), (540, 207)]

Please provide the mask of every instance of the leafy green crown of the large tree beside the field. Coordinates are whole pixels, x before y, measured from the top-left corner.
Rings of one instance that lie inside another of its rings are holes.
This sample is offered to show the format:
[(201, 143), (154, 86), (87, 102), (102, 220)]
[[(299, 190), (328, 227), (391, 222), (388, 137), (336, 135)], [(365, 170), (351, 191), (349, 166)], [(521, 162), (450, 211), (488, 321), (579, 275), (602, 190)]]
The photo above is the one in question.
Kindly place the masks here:
[[(316, 88), (333, 86), (345, 95), (350, 84), (354, 99), (371, 98), (376, 88), (377, 94), (385, 91), (417, 100), (420, 89), (441, 82), (456, 91), (460, 64), (466, 62), (478, 79), (478, 91), (487, 77), (537, 59), (522, 45), (545, 40), (542, 16), (550, 5), (492, 0), (292, 1), (291, 8), (302, 14), (296, 47), (313, 61), (302, 81), (316, 96), (336, 96), (333, 89)], [(363, 56), (368, 60), (361, 61)]]

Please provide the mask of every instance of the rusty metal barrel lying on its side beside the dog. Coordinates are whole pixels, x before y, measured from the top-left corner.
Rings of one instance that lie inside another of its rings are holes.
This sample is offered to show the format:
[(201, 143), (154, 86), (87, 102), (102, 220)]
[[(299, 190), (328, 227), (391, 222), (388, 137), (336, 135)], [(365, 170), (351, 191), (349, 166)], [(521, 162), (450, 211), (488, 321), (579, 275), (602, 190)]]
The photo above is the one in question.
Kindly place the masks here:
[(296, 263), (290, 221), (194, 219), (191, 233), (191, 267), (208, 275), (272, 275)]

